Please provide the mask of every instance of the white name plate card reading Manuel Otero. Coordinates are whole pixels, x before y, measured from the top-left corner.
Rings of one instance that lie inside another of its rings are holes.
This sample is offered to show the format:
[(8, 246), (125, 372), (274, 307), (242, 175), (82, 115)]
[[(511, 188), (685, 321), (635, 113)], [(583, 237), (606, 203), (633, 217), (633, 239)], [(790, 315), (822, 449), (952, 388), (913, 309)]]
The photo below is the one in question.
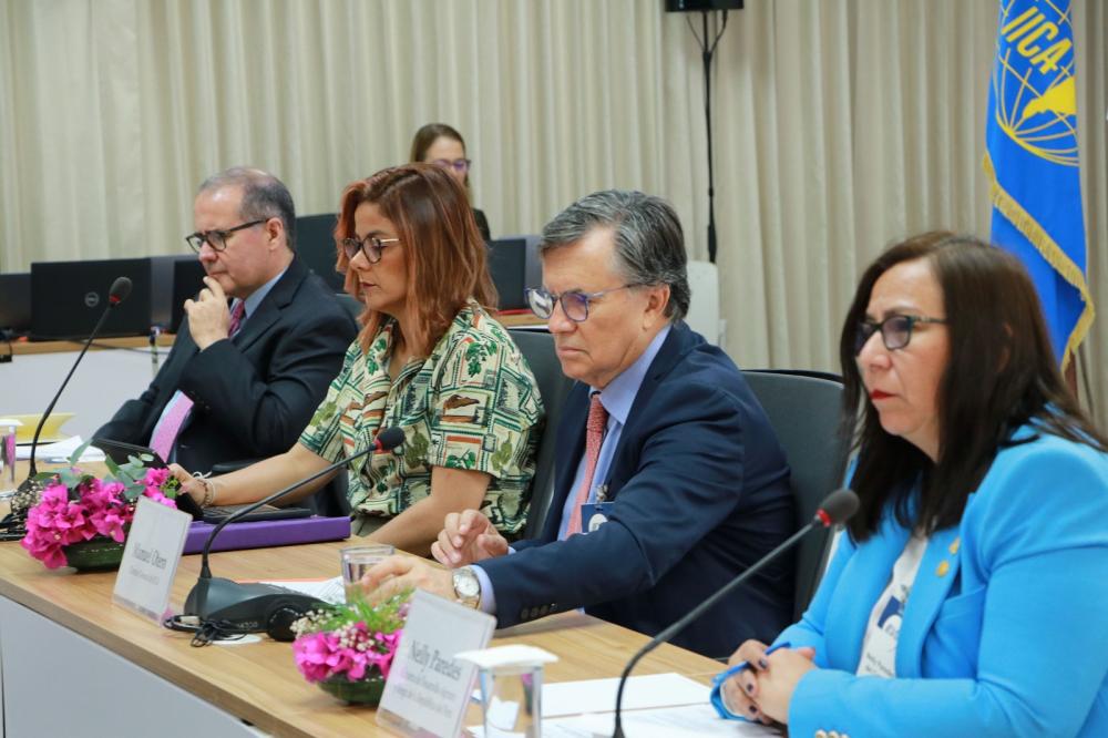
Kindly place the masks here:
[(138, 498), (112, 601), (161, 625), (193, 516)]

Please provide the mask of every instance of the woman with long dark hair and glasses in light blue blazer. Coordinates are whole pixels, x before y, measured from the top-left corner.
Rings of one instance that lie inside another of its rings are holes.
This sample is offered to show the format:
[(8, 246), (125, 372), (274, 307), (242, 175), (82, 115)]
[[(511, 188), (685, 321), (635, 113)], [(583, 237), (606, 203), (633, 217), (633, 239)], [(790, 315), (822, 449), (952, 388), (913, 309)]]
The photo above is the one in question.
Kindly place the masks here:
[(735, 714), (791, 736), (1108, 736), (1108, 443), (1007, 253), (926, 234), (840, 344), (859, 513)]

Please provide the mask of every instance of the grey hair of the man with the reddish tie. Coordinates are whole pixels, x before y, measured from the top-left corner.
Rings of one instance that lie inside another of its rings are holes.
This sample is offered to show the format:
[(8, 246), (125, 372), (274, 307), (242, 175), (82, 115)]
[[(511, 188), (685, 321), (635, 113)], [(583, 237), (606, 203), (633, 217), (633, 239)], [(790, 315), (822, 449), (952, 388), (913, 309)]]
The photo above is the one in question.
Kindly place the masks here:
[(666, 317), (681, 320), (691, 290), (685, 236), (674, 206), (633, 189), (605, 189), (582, 197), (543, 228), (540, 254), (575, 244), (595, 228), (612, 228), (616, 270), (632, 285), (669, 285)]

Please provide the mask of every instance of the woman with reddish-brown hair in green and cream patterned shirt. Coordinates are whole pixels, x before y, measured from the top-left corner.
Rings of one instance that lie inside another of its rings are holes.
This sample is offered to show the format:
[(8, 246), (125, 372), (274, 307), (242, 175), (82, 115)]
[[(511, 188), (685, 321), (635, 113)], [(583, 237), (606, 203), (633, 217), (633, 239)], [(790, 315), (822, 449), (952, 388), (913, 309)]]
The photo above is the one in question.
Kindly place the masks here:
[(517, 534), (543, 408), (490, 316), (496, 295), (465, 191), (432, 165), (383, 170), (343, 191), (335, 238), (346, 290), (366, 309), (327, 398), (286, 453), (207, 481), (176, 468), (185, 489), (207, 504), (260, 500), (399, 427), (402, 447), (348, 471), (356, 533), (427, 553), (448, 513), (480, 505)]

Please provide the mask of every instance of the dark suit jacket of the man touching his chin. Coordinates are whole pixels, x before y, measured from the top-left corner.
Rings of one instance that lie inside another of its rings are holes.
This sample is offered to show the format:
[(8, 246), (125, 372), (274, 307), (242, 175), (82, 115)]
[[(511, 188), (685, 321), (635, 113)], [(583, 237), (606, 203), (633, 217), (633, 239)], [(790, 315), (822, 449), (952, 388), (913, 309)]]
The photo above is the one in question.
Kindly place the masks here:
[(181, 389), (195, 403), (177, 437), (177, 462), (188, 471), (288, 451), (356, 334), (350, 314), (294, 258), (233, 339), (199, 351), (185, 318), (151, 386), (95, 435), (147, 445), (165, 403)]

